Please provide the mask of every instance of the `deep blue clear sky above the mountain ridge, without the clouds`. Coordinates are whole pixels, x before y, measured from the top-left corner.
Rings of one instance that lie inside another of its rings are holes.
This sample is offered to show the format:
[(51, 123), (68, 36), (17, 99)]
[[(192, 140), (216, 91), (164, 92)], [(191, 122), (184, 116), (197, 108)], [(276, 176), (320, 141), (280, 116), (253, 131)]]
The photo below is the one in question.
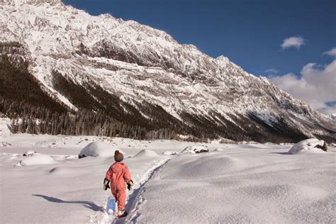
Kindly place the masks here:
[[(164, 30), (179, 43), (196, 45), (211, 57), (224, 55), (257, 76), (273, 78), (291, 74), (291, 78), (302, 82), (305, 81), (302, 80), (305, 79), (303, 68), (308, 63), (316, 63), (312, 68), (323, 72), (335, 60), (332, 53), (323, 54), (336, 47), (335, 0), (64, 2), (92, 15), (110, 13), (116, 18), (134, 20)], [(301, 38), (301, 45), (294, 40), (285, 45), (287, 48), (281, 47), (284, 40), (291, 37)], [(281, 86), (279, 83), (278, 85)], [(286, 86), (281, 87), (293, 94)], [(336, 95), (332, 89), (329, 91)], [(308, 101), (304, 97), (301, 99)], [(333, 102), (336, 101), (336, 96), (335, 99), (327, 97), (320, 100)], [(335, 106), (333, 103), (325, 104), (330, 107), (328, 105)], [(336, 106), (335, 111), (331, 112), (336, 113)]]

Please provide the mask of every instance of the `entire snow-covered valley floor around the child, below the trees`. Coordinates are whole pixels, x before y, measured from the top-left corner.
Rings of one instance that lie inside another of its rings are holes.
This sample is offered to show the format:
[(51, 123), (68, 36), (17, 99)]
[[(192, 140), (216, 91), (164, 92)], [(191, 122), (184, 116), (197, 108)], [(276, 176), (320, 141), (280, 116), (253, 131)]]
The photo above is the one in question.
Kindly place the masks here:
[[(123, 220), (103, 211), (109, 195), (103, 178), (113, 157), (77, 157), (90, 142), (125, 153), (135, 187)], [(210, 152), (179, 153), (193, 145)], [(0, 146), (1, 223), (336, 222), (333, 147), (289, 155), (291, 145), (9, 133), (0, 134)], [(28, 150), (53, 160), (16, 166)]]

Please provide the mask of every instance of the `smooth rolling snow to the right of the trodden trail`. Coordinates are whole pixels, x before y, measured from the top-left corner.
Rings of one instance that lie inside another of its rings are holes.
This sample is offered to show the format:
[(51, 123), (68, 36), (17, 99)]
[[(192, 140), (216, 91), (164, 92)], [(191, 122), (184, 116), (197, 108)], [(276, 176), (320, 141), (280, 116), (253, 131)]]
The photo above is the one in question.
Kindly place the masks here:
[(335, 201), (335, 155), (237, 148), (172, 159), (148, 181), (132, 221), (335, 223)]

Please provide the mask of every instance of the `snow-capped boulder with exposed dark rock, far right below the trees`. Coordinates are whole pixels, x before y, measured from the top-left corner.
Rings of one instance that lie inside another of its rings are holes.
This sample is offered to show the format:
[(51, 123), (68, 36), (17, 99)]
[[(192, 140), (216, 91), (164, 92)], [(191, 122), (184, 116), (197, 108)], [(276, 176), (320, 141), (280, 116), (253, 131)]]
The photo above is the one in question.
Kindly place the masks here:
[(302, 152), (321, 153), (323, 152), (321, 147), (323, 147), (324, 144), (325, 142), (323, 140), (309, 138), (293, 145), (289, 150), (289, 154), (297, 154)]

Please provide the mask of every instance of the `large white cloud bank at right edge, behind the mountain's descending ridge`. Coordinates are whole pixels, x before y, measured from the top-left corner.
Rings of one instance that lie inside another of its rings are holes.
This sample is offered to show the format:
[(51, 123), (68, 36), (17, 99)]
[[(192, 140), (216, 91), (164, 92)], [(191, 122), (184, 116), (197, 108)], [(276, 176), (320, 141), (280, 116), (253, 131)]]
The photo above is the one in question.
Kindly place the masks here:
[(336, 105), (325, 104), (336, 101), (336, 60), (324, 67), (309, 63), (302, 68), (301, 74), (301, 78), (289, 73), (272, 77), (271, 80), (284, 91), (306, 101), (321, 113), (336, 113)]

